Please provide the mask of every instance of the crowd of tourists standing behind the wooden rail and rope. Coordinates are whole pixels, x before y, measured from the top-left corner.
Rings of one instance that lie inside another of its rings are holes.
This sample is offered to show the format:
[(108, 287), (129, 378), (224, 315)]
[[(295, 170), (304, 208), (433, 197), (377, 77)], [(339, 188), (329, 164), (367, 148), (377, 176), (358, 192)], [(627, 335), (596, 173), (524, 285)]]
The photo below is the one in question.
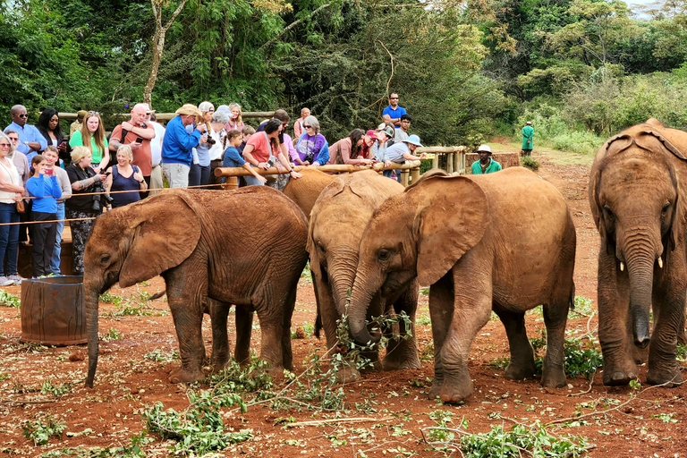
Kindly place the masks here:
[[(411, 115), (391, 94), (382, 123), (354, 129), (330, 142), (309, 108), (293, 123), (276, 110), (257, 128), (244, 123), (238, 104), (215, 107), (205, 101), (176, 110), (166, 126), (146, 104), (131, 108), (130, 119), (108, 135), (97, 111), (81, 111), (63, 131), (59, 114), (48, 108), (29, 123), (26, 107), (13, 106), (12, 123), (0, 132), (0, 286), (19, 284), (20, 244), (31, 247), (33, 277), (60, 276), (64, 221), (72, 233), (72, 271), (83, 275), (83, 252), (95, 218), (165, 187), (220, 189), (217, 167), (243, 167), (240, 185), (270, 184), (283, 189), (301, 174), (295, 165), (389, 166), (418, 160), (420, 137), (411, 134)], [(259, 174), (276, 166), (283, 174)], [(385, 171), (400, 180), (400, 174)]]

